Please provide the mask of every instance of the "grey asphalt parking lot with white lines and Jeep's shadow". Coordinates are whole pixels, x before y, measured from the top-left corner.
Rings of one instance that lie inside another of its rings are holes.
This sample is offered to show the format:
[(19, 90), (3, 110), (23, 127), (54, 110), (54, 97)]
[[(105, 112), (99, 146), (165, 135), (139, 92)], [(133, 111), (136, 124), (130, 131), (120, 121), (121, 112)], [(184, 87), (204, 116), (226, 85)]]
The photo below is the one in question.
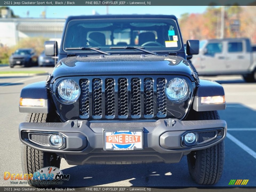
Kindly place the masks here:
[[(15, 70), (18, 67), (14, 68)], [(32, 67), (25, 70), (46, 70)], [(0, 71), (9, 67), (0, 67)], [(20, 70), (24, 70), (20, 68)], [(19, 113), (22, 87), (46, 80), (47, 75), (0, 77), (0, 186), (10, 185), (3, 173), (22, 173), (19, 123), (26, 114)], [(225, 165), (221, 180), (214, 186), (227, 187), (231, 179), (249, 179), (247, 186), (256, 186), (256, 83), (246, 83), (240, 76), (205, 77), (221, 83), (225, 89), (227, 108), (219, 111), (228, 125), (225, 139)], [(70, 166), (62, 159), (61, 170), (70, 174), (67, 186), (198, 186), (189, 176), (186, 157), (175, 164), (84, 165)], [(65, 184), (65, 183), (64, 183)]]

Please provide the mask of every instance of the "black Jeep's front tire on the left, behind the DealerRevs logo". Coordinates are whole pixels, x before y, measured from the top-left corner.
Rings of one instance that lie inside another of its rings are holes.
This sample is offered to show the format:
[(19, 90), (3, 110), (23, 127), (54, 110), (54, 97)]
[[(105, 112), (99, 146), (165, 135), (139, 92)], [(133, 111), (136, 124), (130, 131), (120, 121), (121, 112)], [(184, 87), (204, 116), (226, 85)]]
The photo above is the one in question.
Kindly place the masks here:
[[(30, 113), (27, 115), (26, 122), (49, 122), (50, 120), (52, 119), (48, 117), (48, 114)], [(22, 143), (21, 162), (23, 174), (33, 174), (43, 167), (53, 166), (59, 168), (61, 159), (55, 153), (39, 151)]]

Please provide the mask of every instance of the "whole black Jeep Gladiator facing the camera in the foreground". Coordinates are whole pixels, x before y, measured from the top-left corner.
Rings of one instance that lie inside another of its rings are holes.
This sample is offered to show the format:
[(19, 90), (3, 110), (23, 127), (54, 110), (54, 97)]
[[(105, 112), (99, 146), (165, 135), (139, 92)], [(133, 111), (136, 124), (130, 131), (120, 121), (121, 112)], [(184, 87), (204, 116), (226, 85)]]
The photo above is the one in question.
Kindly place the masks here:
[(94, 15), (66, 20), (58, 63), (24, 87), (19, 111), (23, 172), (70, 165), (177, 163), (194, 181), (219, 181), (224, 163), (223, 87), (199, 80), (173, 15)]

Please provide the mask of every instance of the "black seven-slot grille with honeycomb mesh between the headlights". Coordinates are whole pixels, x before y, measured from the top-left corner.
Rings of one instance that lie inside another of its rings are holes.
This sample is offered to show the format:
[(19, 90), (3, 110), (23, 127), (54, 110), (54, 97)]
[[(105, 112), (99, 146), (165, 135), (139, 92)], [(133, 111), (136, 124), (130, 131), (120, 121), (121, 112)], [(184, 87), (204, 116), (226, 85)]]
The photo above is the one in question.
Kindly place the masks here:
[(79, 84), (81, 118), (166, 117), (165, 78), (84, 78)]

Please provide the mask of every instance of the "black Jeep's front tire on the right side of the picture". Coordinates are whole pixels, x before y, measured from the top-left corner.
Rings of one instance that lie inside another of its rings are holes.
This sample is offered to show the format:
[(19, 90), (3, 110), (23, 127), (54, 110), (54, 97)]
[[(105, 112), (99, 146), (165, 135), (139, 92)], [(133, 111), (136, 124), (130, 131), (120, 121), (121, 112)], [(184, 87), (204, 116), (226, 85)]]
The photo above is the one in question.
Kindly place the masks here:
[[(217, 111), (196, 112), (197, 119), (214, 120), (219, 119)], [(187, 155), (189, 174), (192, 179), (200, 185), (213, 185), (219, 181), (224, 164), (224, 141), (217, 145), (192, 151)]]

